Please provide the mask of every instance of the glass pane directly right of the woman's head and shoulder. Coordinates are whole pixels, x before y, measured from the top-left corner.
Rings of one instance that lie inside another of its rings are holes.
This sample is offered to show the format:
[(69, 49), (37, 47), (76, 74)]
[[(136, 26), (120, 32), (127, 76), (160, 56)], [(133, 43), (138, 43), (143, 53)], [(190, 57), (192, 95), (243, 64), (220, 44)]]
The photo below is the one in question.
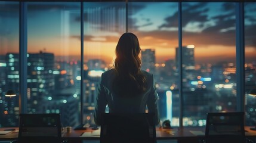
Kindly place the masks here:
[(141, 69), (155, 77), (160, 120), (168, 119), (171, 126), (178, 126), (178, 3), (129, 2), (128, 32), (137, 35), (140, 41)]

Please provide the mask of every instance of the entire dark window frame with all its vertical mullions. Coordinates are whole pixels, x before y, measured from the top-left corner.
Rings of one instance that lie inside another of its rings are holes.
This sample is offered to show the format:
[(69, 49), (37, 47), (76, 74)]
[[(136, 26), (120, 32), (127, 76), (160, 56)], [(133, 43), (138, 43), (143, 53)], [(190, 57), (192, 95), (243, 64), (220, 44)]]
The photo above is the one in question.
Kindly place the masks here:
[[(15, 0), (11, 0), (15, 1)], [(59, 0), (58, 0), (59, 1)], [(55, 1), (55, 2), (58, 2)], [(61, 0), (59, 2), (67, 2), (68, 0)], [(77, 0), (81, 2), (81, 69), (83, 69), (84, 65), (84, 2), (91, 2), (89, 0)], [(113, 2), (113, 1), (118, 1), (118, 0), (112, 0), (112, 1), (106, 1), (106, 2)], [(125, 0), (122, 0), (125, 1)], [(20, 1), (20, 29), (19, 29), (19, 49), (20, 49), (20, 94), (19, 94), (19, 102), (20, 102), (20, 113), (26, 113), (27, 112), (27, 4), (26, 2), (29, 1)], [(49, 1), (42, 1), (42, 2), (49, 2)], [(74, 2), (74, 1), (72, 1)], [(98, 1), (93, 1), (93, 2), (100, 2)], [(125, 1), (126, 5), (128, 2), (151, 2), (151, 1), (135, 1), (135, 0), (130, 0), (130, 1)], [(182, 0), (182, 1), (168, 1), (168, 0), (163, 0), (163, 1), (158, 1), (158, 2), (178, 2), (178, 51), (179, 51), (179, 83), (178, 85), (182, 87), (183, 83), (182, 81), (182, 3), (183, 2), (191, 2), (189, 0)], [(236, 96), (236, 102), (237, 102), (237, 108), (236, 111), (245, 111), (245, 33), (244, 33), (244, 2), (240, 2), (239, 0), (235, 1), (220, 1), (220, 0), (215, 0), (215, 1), (203, 1), (203, 0), (198, 0), (195, 2), (236, 2), (236, 84), (237, 84), (237, 96)], [(248, 1), (249, 2), (249, 1)], [(128, 8), (126, 7), (126, 10)], [(126, 13), (127, 15), (127, 13)], [(128, 16), (126, 18), (126, 31), (128, 30)], [(81, 70), (81, 80), (84, 80), (84, 70)], [(83, 117), (83, 100), (84, 100), (84, 82), (81, 82), (81, 124), (84, 121)], [(183, 89), (179, 88), (179, 107), (180, 107), (180, 127), (183, 127)]]

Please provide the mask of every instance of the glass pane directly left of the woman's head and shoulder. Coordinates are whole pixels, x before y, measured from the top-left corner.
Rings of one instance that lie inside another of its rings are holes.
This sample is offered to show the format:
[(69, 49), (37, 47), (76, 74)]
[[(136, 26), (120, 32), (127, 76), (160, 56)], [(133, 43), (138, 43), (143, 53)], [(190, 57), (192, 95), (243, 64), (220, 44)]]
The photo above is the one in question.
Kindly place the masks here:
[(124, 32), (125, 2), (84, 2), (85, 124), (94, 124), (98, 82), (101, 73), (113, 66), (116, 43)]

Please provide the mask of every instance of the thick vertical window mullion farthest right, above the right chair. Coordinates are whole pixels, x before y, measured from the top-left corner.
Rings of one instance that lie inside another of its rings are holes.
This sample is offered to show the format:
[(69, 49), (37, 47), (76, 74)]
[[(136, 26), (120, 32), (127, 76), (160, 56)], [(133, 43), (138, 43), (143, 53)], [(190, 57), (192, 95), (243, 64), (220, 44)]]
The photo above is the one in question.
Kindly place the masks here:
[(245, 111), (245, 33), (243, 2), (236, 2), (236, 104)]

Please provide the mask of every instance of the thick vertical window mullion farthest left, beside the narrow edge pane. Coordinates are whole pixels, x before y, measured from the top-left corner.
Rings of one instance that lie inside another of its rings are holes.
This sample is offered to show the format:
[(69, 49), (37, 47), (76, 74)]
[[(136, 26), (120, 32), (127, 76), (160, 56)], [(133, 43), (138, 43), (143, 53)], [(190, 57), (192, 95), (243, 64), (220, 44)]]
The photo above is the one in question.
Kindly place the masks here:
[(19, 107), (20, 113), (27, 112), (27, 4), (20, 2), (20, 93), (19, 93)]

